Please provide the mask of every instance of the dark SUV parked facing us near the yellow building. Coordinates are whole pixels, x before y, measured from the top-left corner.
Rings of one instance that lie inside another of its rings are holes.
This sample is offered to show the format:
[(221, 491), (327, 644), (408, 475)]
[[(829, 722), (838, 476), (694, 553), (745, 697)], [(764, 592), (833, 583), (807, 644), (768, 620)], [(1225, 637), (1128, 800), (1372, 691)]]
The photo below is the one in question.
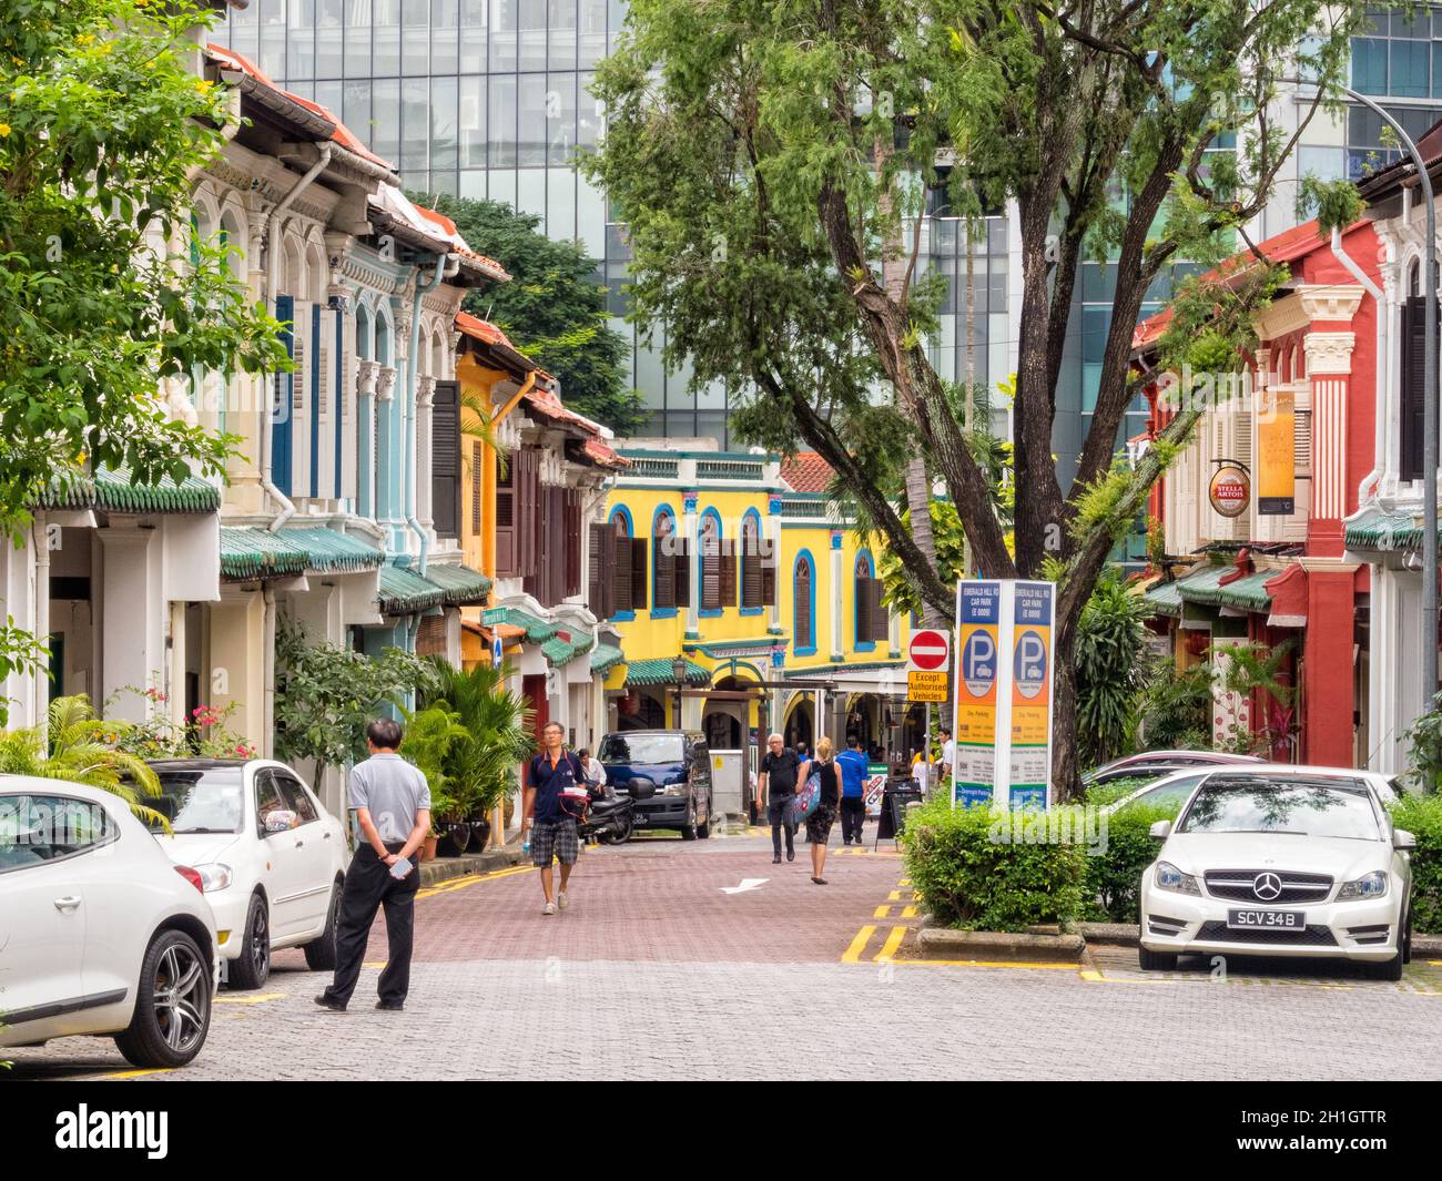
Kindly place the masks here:
[(656, 795), (636, 800), (636, 828), (673, 828), (682, 841), (711, 835), (711, 753), (688, 730), (619, 730), (601, 740), (606, 782), (620, 795), (649, 779)]

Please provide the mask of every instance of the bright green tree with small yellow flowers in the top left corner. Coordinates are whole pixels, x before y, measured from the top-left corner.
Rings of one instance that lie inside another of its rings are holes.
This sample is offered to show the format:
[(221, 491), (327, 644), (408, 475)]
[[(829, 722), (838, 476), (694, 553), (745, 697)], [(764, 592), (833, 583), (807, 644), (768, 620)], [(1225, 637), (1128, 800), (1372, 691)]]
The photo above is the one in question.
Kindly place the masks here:
[[(221, 88), (192, 71), (193, 0), (0, 4), (0, 532), (52, 480), (219, 473), (234, 440), (166, 414), (196, 369), (281, 368), (275, 322), (193, 242)], [(0, 629), (0, 672), (36, 668)]]

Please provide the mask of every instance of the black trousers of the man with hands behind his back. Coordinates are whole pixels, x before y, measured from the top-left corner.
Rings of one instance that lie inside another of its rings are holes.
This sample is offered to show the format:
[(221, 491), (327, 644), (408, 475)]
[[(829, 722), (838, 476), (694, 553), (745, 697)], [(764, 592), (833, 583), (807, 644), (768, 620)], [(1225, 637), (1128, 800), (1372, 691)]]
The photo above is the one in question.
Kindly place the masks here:
[[(399, 852), (404, 845), (386, 845), (386, 852)], [(382, 1001), (401, 1004), (411, 989), (411, 946), (415, 940), (415, 891), (421, 884), (420, 865), (397, 881), (391, 868), (376, 857), (371, 845), (362, 845), (340, 894), (340, 924), (336, 927), (336, 978), (326, 995), (349, 1004), (360, 979), (360, 960), (371, 936), (375, 913), (385, 907), (385, 934), (391, 943), (389, 962), (381, 973), (376, 991)]]

